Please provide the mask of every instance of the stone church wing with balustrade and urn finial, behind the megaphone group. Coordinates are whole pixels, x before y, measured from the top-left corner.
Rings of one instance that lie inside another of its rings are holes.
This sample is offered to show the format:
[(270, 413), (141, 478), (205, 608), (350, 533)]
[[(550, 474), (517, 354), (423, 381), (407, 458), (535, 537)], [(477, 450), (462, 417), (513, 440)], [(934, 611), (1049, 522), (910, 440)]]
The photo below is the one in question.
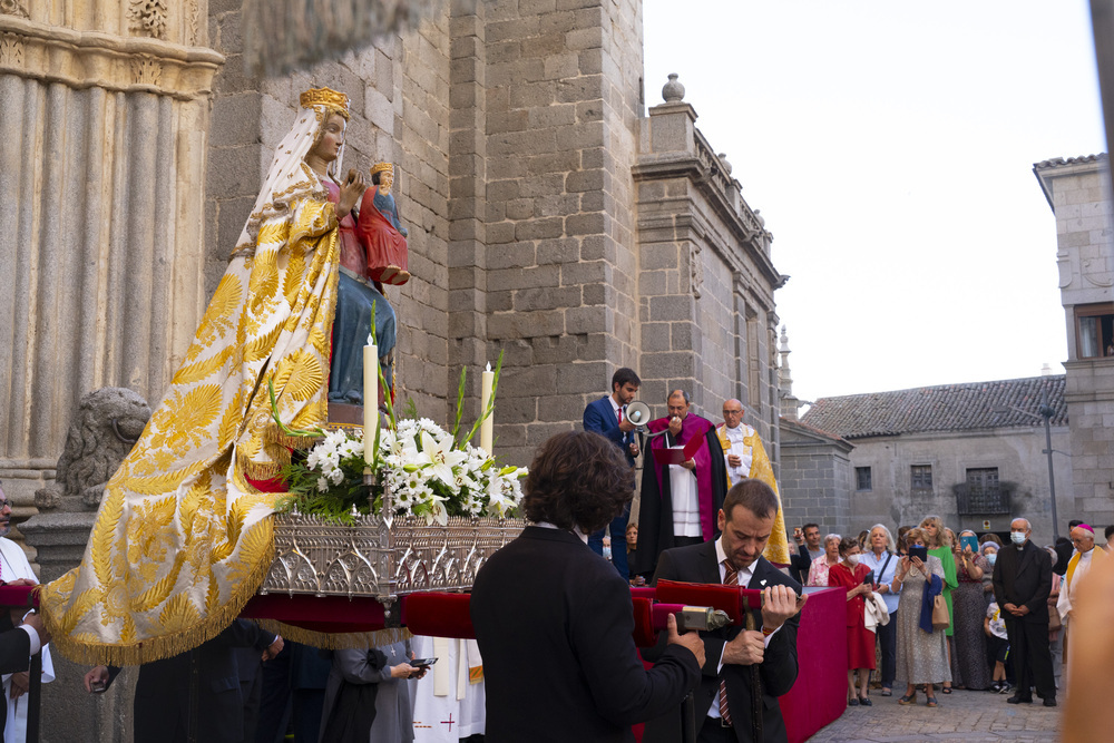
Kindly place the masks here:
[(663, 95), (642, 120), (634, 169), (643, 397), (664, 405), (667, 390), (686, 388), (715, 421), (723, 401), (737, 398), (776, 462), (773, 292), (782, 277), (772, 235), (695, 127), (684, 89)]

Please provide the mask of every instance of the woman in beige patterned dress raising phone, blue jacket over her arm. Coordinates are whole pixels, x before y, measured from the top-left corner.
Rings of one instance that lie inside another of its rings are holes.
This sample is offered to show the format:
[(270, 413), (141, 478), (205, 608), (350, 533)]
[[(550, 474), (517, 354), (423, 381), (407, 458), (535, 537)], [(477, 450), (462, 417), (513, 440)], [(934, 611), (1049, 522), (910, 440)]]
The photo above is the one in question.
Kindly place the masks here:
[(931, 604), (944, 586), (944, 566), (939, 558), (928, 554), (924, 530), (909, 529), (906, 546), (909, 555), (901, 558), (890, 584), (890, 590), (901, 593), (896, 677), (906, 680), (906, 694), (898, 703), (916, 704), (917, 686), (924, 684), (928, 706), (935, 707), (932, 684), (951, 681), (948, 639), (942, 630), (932, 629)]

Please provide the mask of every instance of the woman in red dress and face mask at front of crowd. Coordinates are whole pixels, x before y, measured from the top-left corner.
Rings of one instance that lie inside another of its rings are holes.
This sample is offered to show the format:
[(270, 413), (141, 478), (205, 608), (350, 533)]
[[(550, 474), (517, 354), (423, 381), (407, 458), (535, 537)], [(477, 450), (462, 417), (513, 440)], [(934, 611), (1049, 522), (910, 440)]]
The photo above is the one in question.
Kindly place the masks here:
[[(859, 540), (843, 537), (839, 542), (840, 563), (828, 571), (828, 585), (847, 588), (847, 688), (848, 706), (871, 706), (867, 697), (870, 672), (874, 669), (874, 633), (867, 629), (867, 599), (873, 588), (871, 571), (859, 560)], [(856, 694), (854, 674), (859, 673)]]

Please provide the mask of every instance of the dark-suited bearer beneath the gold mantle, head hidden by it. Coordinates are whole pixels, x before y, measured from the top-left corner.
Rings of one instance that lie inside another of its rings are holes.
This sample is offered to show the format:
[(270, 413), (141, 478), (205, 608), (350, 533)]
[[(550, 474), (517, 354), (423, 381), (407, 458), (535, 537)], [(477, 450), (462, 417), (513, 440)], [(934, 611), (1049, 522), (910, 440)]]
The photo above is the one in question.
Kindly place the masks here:
[[(174, 657), (139, 666), (133, 710), (136, 743), (184, 743), (189, 730), (192, 668), (198, 673), (197, 740), (240, 743), (244, 740), (244, 702), (233, 648), (253, 647), (266, 661), (282, 649), (282, 637), (254, 622), (236, 619), (213, 639)], [(85, 688), (110, 685), (120, 669), (97, 666), (85, 675)]]

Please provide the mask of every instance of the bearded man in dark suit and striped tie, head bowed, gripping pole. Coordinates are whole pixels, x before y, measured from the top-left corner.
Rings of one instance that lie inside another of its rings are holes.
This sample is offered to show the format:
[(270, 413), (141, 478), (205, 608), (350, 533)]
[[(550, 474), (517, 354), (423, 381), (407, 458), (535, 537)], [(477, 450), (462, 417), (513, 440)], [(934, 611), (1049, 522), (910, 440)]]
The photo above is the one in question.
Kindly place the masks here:
[[(694, 693), (700, 743), (786, 740), (778, 697), (797, 681), (798, 615), (803, 603), (798, 598), (801, 585), (762, 557), (776, 514), (778, 497), (768, 485), (741, 480), (727, 491), (719, 512), (719, 539), (667, 549), (658, 558), (655, 584), (661, 579), (722, 583), (763, 592), (762, 609), (753, 612), (759, 629), (726, 627), (702, 635), (706, 659)], [(645, 655), (652, 659), (654, 653)], [(758, 716), (755, 708), (761, 710)], [(646, 724), (645, 743), (678, 740), (680, 707)]]

